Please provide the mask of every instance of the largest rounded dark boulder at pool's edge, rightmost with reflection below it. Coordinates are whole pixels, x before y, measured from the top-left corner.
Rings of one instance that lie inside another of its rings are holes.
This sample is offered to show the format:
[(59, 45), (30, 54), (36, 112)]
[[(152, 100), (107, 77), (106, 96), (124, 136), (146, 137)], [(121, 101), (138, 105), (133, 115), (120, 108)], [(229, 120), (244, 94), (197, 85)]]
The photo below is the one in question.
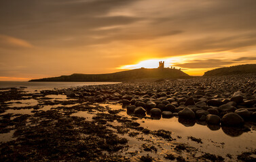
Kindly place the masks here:
[(221, 124), (223, 124), (223, 126), (242, 126), (244, 119), (237, 113), (227, 113), (222, 117)]

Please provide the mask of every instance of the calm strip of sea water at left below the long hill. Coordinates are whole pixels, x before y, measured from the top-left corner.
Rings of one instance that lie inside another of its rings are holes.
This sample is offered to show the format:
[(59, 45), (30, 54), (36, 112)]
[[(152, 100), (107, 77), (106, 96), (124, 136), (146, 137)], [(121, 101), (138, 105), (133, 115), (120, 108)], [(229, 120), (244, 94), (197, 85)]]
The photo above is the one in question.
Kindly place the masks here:
[(71, 88), (76, 86), (117, 84), (118, 82), (0, 82), (1, 88), (26, 87), (26, 91), (52, 90), (54, 88)]

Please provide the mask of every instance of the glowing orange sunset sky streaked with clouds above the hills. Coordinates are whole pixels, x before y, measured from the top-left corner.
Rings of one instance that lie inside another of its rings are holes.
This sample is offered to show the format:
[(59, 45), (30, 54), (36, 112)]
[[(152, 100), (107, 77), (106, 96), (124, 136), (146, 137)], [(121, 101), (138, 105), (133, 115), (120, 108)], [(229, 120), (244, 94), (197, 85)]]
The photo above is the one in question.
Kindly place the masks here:
[(255, 0), (0, 0), (0, 80), (256, 63)]

